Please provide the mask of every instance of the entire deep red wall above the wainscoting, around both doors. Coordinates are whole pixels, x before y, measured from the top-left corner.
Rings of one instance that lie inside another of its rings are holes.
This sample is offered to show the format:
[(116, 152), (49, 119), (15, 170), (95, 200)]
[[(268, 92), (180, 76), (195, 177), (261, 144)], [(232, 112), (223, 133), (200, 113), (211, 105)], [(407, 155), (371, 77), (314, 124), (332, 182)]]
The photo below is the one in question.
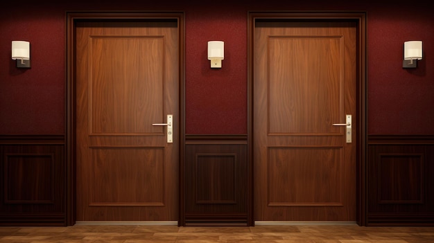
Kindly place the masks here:
[[(368, 132), (434, 134), (433, 3), (0, 3), (0, 134), (64, 134), (65, 11), (182, 10), (186, 20), (186, 133), (247, 132), (248, 10), (367, 11)], [(170, 6), (168, 8), (168, 6)], [(424, 42), (419, 68), (402, 69), (403, 42)], [(31, 42), (32, 68), (15, 68), (12, 40)], [(225, 41), (210, 69), (207, 41)]]

